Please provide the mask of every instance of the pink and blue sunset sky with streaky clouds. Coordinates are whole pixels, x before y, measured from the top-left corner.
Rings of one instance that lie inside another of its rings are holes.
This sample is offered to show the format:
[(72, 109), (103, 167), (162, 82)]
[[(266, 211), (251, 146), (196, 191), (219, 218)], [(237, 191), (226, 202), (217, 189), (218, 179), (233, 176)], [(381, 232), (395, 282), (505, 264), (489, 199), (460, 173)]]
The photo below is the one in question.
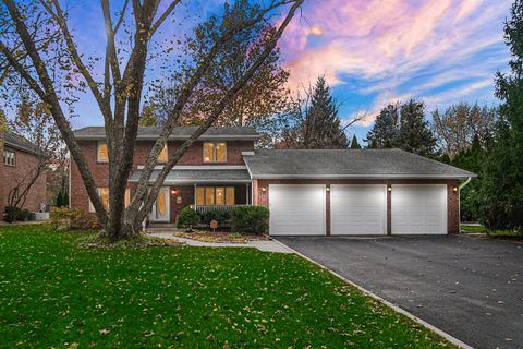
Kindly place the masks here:
[[(306, 0), (280, 40), (289, 87), (325, 75), (349, 130), (363, 140), (387, 104), (418, 98), (427, 109), (469, 101), (496, 105), (494, 77), (506, 71), (509, 52), (503, 22), (510, 0)], [(175, 29), (190, 31), (196, 16), (217, 13), (218, 0), (186, 0)], [(77, 0), (71, 23), (84, 52), (104, 51), (99, 2)], [(98, 25), (96, 25), (98, 23)], [(162, 35), (169, 36), (170, 26)], [(74, 127), (101, 124), (83, 98)]]

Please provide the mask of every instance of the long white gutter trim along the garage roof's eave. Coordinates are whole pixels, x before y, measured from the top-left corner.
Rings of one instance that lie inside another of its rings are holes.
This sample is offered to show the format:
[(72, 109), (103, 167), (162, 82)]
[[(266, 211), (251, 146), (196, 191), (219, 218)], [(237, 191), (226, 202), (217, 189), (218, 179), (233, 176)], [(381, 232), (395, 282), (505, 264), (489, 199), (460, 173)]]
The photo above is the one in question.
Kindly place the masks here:
[[(248, 169), (248, 167), (247, 167)], [(256, 174), (254, 179), (463, 179), (461, 174)], [(474, 174), (474, 177), (476, 177)]]

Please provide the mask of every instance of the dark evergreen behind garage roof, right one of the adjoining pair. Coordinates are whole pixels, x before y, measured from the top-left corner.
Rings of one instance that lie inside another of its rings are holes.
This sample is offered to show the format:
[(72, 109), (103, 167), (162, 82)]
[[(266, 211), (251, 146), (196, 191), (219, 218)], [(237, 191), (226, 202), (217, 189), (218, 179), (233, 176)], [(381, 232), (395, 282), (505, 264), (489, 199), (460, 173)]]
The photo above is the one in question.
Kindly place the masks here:
[(401, 105), (400, 133), (394, 146), (422, 156), (434, 155), (436, 139), (425, 120), (423, 101), (411, 99)]

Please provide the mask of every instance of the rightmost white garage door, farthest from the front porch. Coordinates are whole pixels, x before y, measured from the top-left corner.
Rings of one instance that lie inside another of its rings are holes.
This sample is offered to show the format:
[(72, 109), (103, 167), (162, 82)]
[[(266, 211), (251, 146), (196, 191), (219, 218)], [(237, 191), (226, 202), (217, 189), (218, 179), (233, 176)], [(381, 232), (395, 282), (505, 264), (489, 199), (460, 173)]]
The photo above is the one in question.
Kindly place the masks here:
[(392, 185), (392, 234), (446, 234), (446, 185)]

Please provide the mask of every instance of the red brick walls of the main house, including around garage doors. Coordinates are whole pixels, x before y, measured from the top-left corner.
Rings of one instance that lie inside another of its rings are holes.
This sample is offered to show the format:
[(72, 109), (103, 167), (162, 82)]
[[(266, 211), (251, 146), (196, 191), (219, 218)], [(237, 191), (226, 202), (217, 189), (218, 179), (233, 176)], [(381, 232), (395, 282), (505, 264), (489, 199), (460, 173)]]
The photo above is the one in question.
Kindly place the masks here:
[[(96, 141), (80, 142), (82, 151), (85, 155), (87, 164), (93, 172), (93, 178), (97, 186), (108, 186), (109, 168), (108, 164), (97, 163), (97, 144)], [(172, 156), (178, 146), (182, 142), (169, 142), (169, 156)], [(135, 147), (135, 156), (133, 161), (133, 170), (138, 166), (144, 165), (150, 149), (154, 145), (153, 141), (139, 141)], [(253, 141), (231, 141), (227, 142), (227, 163), (204, 163), (203, 142), (196, 142), (182, 156), (178, 166), (243, 166), (242, 152), (254, 151)], [(1, 176), (1, 173), (0, 173)], [(1, 179), (1, 177), (0, 177)], [(459, 192), (454, 192), (453, 188), (458, 186), (457, 180), (349, 180), (349, 179), (330, 179), (330, 180), (254, 180), (252, 183), (253, 204), (268, 207), (269, 203), (269, 184), (446, 184), (448, 192), (448, 232), (458, 233), (460, 225), (460, 203)], [(134, 185), (130, 185), (131, 195), (134, 194)], [(243, 197), (251, 193), (251, 188), (244, 189), (236, 186), (236, 203), (242, 204)], [(88, 195), (84, 183), (80, 176), (80, 171), (75, 164), (71, 166), (71, 207), (88, 209)], [(327, 212), (327, 233), (330, 231), (330, 195), (326, 195), (326, 212)], [(245, 198), (247, 202), (247, 198)], [(177, 216), (181, 209), (187, 205), (194, 204), (194, 185), (178, 185), (170, 186), (170, 220), (175, 221)], [(387, 192), (387, 232), (391, 233), (391, 193)]]

